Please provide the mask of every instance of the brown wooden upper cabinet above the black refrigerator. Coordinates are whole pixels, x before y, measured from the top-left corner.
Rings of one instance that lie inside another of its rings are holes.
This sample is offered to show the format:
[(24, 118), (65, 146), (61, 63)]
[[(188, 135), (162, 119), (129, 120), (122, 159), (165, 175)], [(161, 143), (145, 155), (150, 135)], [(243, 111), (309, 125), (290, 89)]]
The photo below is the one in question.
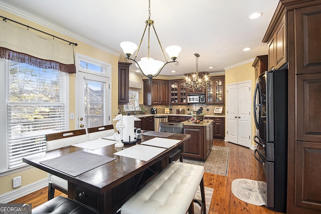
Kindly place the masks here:
[[(272, 29), (271, 29), (272, 31)], [(277, 27), (269, 35), (265, 35), (268, 46), (268, 70), (279, 69), (287, 62), (285, 15), (279, 20)]]

